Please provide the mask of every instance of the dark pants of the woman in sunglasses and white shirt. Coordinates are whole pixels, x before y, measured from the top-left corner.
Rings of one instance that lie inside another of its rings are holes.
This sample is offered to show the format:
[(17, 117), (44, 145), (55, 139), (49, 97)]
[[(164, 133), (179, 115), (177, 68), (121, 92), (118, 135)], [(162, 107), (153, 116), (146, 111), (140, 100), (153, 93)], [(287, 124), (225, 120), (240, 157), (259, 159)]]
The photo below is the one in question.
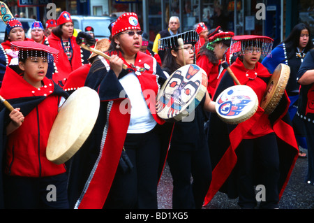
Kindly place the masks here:
[(144, 134), (127, 134), (124, 148), (134, 168), (118, 167), (103, 208), (157, 209), (160, 139), (156, 128)]

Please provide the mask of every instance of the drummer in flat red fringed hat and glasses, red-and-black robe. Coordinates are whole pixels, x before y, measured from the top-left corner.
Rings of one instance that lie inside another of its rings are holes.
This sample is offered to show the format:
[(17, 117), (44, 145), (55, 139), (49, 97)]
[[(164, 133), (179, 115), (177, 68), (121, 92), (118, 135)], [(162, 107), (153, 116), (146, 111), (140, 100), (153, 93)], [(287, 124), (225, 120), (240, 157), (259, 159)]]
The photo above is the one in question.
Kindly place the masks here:
[[(258, 61), (261, 55), (271, 52), (272, 43), (273, 40), (267, 36), (234, 36), (230, 46), (232, 53), (241, 51), (241, 56), (230, 69), (241, 85), (254, 90), (259, 101), (267, 90), (271, 74)], [(233, 85), (234, 81), (226, 71), (213, 100)], [(263, 185), (266, 192), (262, 193), (266, 196), (262, 197), (260, 208), (278, 208), (298, 154), (292, 127), (281, 118), (287, 117), (287, 106), (285, 95), (271, 115), (258, 106), (253, 117), (240, 124), (225, 124), (211, 113), (208, 143), (214, 170), (206, 204), (220, 189), (232, 199), (239, 196), (241, 208), (255, 208), (257, 199), (253, 186)], [(283, 153), (285, 159), (280, 159)]]

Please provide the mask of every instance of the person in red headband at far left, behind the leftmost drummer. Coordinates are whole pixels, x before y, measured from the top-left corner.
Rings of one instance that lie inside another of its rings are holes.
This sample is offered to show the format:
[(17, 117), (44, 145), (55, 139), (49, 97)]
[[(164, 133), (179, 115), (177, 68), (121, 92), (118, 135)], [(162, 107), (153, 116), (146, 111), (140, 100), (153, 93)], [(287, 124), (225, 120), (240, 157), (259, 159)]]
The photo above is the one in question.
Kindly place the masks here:
[(22, 23), (15, 18), (7, 21), (4, 41), (0, 45), (0, 87), (3, 75), (6, 72), (6, 66), (9, 64), (17, 66), (18, 62), (17, 52), (11, 50), (11, 41), (32, 41), (30, 38), (25, 37)]

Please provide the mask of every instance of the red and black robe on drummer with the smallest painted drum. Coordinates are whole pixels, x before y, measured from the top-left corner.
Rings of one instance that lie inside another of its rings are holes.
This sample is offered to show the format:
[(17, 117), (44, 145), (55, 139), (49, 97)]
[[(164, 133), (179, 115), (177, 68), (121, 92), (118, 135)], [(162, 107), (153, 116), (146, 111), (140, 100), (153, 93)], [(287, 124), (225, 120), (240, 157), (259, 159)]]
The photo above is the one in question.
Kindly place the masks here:
[[(244, 68), (239, 58), (230, 66), (230, 69), (233, 71), (234, 75), (236, 75), (241, 85), (251, 85), (253, 89), (261, 87), (261, 89), (255, 92), (257, 97), (259, 99), (261, 98), (264, 93), (262, 89), (266, 89), (266, 82), (262, 83), (261, 81), (262, 79), (269, 78), (271, 75), (262, 64), (257, 63), (255, 66), (257, 78), (260, 80), (254, 84), (253, 81), (246, 78), (247, 69)], [(234, 81), (229, 73), (225, 72), (223, 78), (221, 78), (218, 83), (213, 101), (216, 101), (220, 92), (223, 92), (224, 89), (232, 85), (234, 85)], [(287, 114), (289, 104), (289, 98), (287, 94), (284, 94), (276, 110), (274, 110), (269, 117), (264, 114), (264, 110), (258, 106), (253, 117), (237, 125), (225, 124), (216, 114), (211, 114), (209, 119), (209, 147), (211, 148), (213, 177), (204, 200), (204, 205), (207, 205), (211, 199), (213, 199), (216, 192), (223, 187), (230, 173), (232, 173), (234, 166), (237, 164), (237, 154), (235, 151), (241, 141), (244, 138), (265, 135), (269, 131), (274, 131), (277, 136), (281, 170), (281, 179), (278, 182), (278, 188), (280, 189), (279, 198), (281, 198), (298, 157), (297, 141), (292, 126), (290, 125), (289, 115)], [(263, 129), (263, 124), (265, 123), (267, 124), (266, 130)], [(252, 133), (254, 133), (254, 135)]]

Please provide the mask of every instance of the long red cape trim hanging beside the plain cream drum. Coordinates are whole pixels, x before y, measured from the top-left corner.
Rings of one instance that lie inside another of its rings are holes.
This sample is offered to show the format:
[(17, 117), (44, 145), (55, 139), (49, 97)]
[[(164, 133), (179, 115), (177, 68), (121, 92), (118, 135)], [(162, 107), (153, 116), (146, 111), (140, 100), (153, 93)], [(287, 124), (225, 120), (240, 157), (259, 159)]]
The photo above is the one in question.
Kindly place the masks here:
[(78, 207), (80, 209), (101, 209), (107, 199), (130, 122), (130, 115), (122, 115), (119, 111), (123, 100), (119, 99), (112, 104), (103, 153), (87, 192)]

